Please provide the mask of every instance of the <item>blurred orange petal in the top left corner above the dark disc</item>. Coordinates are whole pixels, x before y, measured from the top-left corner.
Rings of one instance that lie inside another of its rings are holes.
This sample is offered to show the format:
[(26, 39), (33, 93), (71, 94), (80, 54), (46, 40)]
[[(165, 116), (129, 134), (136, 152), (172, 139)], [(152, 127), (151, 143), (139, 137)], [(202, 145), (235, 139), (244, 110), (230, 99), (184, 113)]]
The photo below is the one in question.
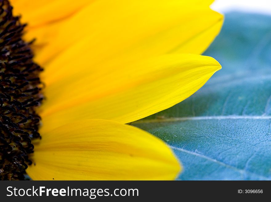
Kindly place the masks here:
[(10, 0), (13, 14), (21, 15), (21, 21), (29, 27), (62, 20), (78, 12), (94, 0)]

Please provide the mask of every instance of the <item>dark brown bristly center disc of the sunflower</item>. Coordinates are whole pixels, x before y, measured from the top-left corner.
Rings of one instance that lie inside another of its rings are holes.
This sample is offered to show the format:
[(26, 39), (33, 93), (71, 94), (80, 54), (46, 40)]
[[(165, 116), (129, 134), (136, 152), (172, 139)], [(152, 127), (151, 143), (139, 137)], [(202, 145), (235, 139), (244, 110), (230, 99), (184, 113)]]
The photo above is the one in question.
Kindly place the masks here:
[(40, 138), (35, 112), (43, 96), (30, 43), (22, 40), (25, 25), (12, 15), (8, 0), (0, 0), (0, 179), (23, 180), (31, 139)]

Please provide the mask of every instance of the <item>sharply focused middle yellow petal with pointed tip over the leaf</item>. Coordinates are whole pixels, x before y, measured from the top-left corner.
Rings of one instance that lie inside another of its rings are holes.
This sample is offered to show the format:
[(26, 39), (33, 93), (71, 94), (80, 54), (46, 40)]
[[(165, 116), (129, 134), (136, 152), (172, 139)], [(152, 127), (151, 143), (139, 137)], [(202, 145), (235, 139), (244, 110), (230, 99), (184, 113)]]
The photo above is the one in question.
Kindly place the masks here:
[(183, 101), (221, 68), (212, 57), (193, 54), (106, 65), (45, 88), (41, 131), (82, 119), (136, 121)]

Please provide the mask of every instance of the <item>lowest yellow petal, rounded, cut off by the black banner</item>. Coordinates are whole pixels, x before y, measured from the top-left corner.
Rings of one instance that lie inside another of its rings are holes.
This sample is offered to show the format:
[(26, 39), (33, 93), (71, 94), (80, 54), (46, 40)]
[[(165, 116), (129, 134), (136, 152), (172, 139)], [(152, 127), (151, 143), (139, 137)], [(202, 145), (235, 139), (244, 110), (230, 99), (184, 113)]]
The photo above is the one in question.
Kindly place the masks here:
[(43, 133), (34, 144), (33, 180), (173, 180), (180, 164), (160, 139), (105, 120), (84, 120)]

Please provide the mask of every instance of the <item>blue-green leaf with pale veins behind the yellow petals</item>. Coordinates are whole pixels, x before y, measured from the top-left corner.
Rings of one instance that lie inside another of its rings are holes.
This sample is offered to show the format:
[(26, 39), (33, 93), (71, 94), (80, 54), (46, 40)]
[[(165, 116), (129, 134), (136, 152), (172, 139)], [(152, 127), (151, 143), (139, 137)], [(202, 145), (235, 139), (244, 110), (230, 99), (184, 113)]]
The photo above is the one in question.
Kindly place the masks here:
[(204, 55), (222, 65), (204, 87), (132, 125), (173, 148), (180, 180), (271, 180), (271, 16), (226, 14)]

